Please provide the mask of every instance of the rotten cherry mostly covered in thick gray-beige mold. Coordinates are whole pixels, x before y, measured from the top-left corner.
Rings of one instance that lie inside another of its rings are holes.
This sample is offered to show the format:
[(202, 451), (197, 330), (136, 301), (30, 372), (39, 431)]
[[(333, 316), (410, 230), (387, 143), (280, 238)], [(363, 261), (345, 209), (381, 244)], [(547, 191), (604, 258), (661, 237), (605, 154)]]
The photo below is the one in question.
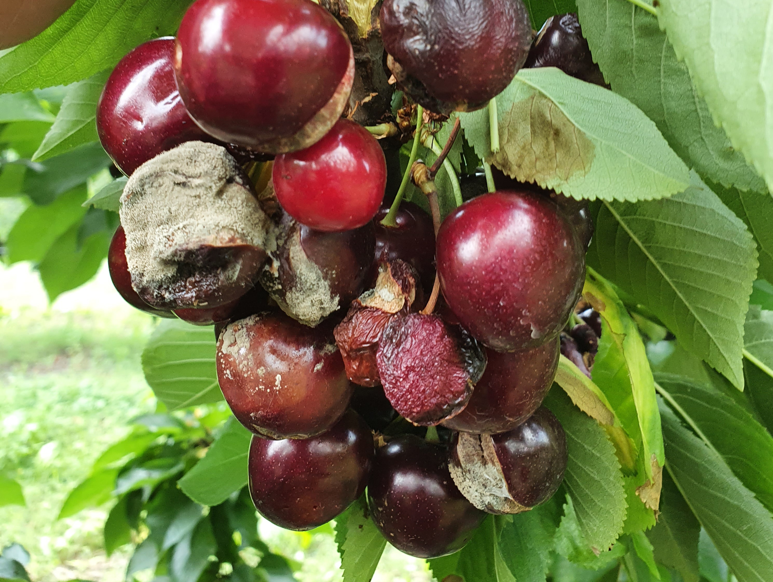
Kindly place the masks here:
[(189, 141), (141, 165), (121, 224), (132, 286), (155, 308), (213, 308), (239, 298), (273, 250), (274, 225), (225, 148)]

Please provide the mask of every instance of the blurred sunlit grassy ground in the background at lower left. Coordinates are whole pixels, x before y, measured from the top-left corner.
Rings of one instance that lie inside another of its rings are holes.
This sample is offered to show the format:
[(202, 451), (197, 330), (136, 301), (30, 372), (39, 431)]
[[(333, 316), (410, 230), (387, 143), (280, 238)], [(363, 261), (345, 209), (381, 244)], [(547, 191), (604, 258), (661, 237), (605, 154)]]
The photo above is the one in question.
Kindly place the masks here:
[[(131, 546), (107, 558), (109, 505), (56, 521), (62, 502), (99, 454), (155, 409), (140, 355), (154, 318), (126, 305), (103, 268), (53, 306), (34, 271), (0, 264), (0, 472), (24, 488), (26, 507), (0, 508), (0, 547), (32, 554), (35, 582), (119, 582)], [(261, 521), (271, 549), (301, 563), (299, 582), (339, 582), (332, 529), (288, 532)], [(424, 560), (388, 546), (374, 582), (429, 582)]]

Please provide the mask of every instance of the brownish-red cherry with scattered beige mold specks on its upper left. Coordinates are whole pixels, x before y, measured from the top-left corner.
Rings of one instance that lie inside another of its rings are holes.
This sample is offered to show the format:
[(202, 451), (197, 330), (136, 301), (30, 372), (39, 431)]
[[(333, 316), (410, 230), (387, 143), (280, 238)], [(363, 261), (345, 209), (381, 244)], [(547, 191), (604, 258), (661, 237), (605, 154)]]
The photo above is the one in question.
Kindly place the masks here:
[(332, 328), (282, 313), (240, 319), (220, 333), (217, 379), (233, 416), (268, 438), (308, 438), (332, 427), (352, 386)]

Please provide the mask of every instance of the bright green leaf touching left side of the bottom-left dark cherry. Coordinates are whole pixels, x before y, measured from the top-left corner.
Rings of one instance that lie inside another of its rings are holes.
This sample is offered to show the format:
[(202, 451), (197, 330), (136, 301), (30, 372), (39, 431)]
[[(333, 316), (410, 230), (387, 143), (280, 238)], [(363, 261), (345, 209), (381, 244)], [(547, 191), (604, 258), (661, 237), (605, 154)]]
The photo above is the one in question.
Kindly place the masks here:
[(228, 499), (247, 485), (251, 438), (250, 431), (229, 418), (204, 458), (179, 480), (179, 488), (202, 505), (218, 505)]

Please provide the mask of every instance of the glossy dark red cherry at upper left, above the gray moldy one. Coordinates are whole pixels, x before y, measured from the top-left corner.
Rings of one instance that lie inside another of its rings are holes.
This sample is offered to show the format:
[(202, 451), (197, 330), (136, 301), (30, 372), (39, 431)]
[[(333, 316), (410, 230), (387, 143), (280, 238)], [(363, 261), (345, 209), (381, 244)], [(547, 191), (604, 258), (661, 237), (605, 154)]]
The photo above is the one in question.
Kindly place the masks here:
[(121, 172), (184, 141), (212, 141), (186, 111), (175, 83), (175, 39), (155, 39), (124, 56), (97, 104), (97, 133)]

